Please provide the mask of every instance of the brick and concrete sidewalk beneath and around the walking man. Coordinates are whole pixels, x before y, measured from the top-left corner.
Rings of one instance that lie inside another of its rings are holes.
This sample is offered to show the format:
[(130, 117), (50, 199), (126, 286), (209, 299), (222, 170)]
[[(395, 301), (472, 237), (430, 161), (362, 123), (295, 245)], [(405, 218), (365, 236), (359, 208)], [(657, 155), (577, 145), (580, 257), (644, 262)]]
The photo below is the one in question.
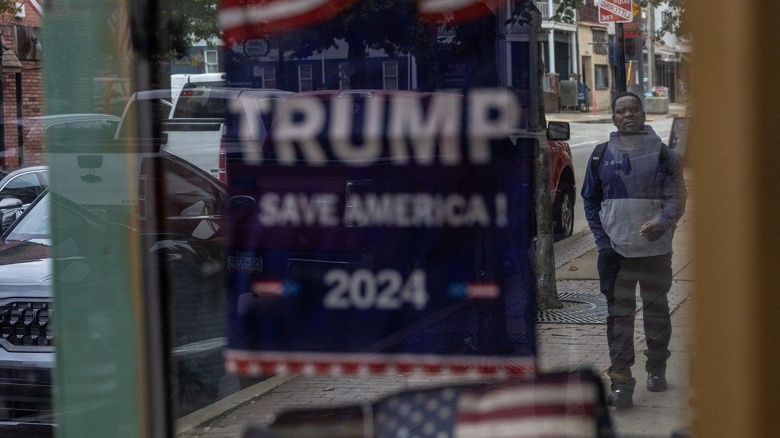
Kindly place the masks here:
[[(686, 219), (686, 218), (684, 218)], [(690, 349), (690, 224), (682, 221), (675, 237), (675, 277), (669, 293), (672, 309), (672, 358), (668, 362), (669, 390), (648, 393), (644, 387), (644, 327), (642, 313), (636, 313), (636, 406), (616, 412), (611, 409), (617, 436), (669, 436), (673, 430), (687, 426), (688, 371)], [(576, 291), (601, 295), (598, 286), (593, 237), (573, 236), (555, 245), (558, 267), (558, 293)], [(576, 267), (576, 270), (571, 270)], [(637, 309), (639, 310), (639, 309)], [(543, 370), (593, 367), (602, 376), (609, 366), (605, 324), (541, 323), (537, 324), (538, 364)], [(324, 408), (371, 401), (399, 390), (456, 383), (452, 377), (416, 375), (376, 377), (306, 377), (299, 376), (211, 419), (182, 437), (228, 438), (241, 436), (248, 424), (268, 424), (276, 412), (289, 408)], [(605, 379), (608, 389), (608, 379)]]

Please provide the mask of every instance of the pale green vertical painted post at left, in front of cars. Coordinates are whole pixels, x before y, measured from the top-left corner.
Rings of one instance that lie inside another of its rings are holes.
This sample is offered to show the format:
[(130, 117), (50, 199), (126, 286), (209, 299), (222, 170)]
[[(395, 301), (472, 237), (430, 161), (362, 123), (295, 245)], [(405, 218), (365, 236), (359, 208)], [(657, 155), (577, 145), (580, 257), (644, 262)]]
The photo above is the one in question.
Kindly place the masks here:
[[(46, 114), (111, 112), (129, 94), (121, 0), (47, 2)], [(78, 129), (47, 138), (57, 436), (148, 436), (133, 145)]]

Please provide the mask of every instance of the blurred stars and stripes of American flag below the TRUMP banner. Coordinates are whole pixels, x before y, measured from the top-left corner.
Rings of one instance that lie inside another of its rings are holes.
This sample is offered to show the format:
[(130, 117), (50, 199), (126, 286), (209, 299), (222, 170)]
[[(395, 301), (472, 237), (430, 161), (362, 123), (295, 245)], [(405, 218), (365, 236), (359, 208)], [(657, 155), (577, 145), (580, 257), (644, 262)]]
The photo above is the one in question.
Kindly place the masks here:
[(378, 438), (608, 436), (601, 385), (590, 372), (488, 387), (408, 392), (375, 404)]

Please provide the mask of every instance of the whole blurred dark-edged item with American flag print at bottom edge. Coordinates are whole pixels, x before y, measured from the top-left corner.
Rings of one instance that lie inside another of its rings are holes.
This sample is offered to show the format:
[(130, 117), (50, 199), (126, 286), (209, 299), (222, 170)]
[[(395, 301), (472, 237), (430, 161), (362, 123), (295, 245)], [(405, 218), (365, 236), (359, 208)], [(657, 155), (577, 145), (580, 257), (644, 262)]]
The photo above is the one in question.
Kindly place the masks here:
[(244, 438), (601, 438), (610, 421), (598, 377), (541, 374), (463, 387), (415, 390), (374, 404), (280, 412)]

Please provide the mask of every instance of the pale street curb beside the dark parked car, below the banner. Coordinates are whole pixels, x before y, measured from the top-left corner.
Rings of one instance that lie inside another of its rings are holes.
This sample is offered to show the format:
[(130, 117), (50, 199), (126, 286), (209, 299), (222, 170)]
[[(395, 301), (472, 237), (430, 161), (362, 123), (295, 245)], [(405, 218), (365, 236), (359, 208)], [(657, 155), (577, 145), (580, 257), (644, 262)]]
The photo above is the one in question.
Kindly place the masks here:
[(297, 376), (297, 374), (277, 374), (271, 376), (262, 382), (255, 383), (251, 387), (239, 390), (235, 394), (231, 394), (220, 401), (215, 401), (205, 408), (198, 409), (195, 412), (185, 415), (181, 419), (176, 420), (174, 436), (191, 434), (194, 432), (194, 429), (204, 426), (208, 422), (240, 408), (257, 397), (268, 394), (271, 390), (275, 390), (276, 387), (295, 379)]

